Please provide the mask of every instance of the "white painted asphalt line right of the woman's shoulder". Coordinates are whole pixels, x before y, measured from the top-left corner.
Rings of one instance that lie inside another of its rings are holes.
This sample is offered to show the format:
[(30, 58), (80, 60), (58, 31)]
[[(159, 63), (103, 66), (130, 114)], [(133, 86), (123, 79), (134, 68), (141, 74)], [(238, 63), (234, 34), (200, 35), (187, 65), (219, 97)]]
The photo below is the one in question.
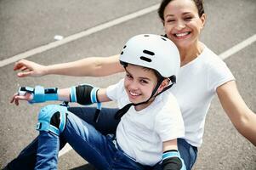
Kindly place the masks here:
[(236, 54), (238, 51), (242, 50), (242, 48), (246, 48), (248, 45), (252, 44), (256, 41), (256, 34), (254, 34), (252, 37), (248, 37), (246, 40), (238, 43), (234, 47), (226, 50), (224, 53), (219, 54), (219, 57), (221, 59), (227, 59), (233, 54)]

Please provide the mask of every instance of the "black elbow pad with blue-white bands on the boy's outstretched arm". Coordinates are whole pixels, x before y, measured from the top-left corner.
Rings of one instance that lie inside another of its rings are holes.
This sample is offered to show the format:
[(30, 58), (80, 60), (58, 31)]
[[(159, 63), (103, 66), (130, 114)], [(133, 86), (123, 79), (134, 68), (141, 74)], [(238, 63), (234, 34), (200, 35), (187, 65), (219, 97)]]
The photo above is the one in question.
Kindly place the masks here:
[(94, 88), (88, 84), (81, 84), (71, 87), (71, 102), (77, 102), (80, 105), (91, 105), (97, 103), (94, 121), (98, 122), (101, 110), (101, 103), (97, 99), (99, 88)]

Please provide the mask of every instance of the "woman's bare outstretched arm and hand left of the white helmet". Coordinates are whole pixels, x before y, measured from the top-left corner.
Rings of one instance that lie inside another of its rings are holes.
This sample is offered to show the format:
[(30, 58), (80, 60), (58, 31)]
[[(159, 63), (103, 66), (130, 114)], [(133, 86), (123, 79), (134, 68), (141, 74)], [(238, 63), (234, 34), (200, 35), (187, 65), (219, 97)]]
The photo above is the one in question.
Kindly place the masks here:
[(90, 57), (57, 65), (39, 65), (21, 59), (14, 65), (14, 71), (20, 71), (18, 77), (41, 77), (49, 74), (74, 77), (103, 77), (124, 71), (119, 64), (119, 55), (111, 57)]

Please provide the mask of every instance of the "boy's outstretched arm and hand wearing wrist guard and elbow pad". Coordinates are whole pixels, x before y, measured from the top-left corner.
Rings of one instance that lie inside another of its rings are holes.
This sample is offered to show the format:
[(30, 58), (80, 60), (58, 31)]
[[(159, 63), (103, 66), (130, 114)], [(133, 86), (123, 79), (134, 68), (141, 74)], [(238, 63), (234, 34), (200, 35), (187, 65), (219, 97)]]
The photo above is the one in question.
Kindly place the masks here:
[(27, 100), (30, 103), (42, 103), (49, 100), (77, 102), (81, 105), (110, 101), (106, 95), (105, 88), (94, 88), (88, 84), (82, 84), (71, 88), (35, 88), (21, 87), (19, 92), (14, 94), (11, 103), (19, 105), (19, 100)]

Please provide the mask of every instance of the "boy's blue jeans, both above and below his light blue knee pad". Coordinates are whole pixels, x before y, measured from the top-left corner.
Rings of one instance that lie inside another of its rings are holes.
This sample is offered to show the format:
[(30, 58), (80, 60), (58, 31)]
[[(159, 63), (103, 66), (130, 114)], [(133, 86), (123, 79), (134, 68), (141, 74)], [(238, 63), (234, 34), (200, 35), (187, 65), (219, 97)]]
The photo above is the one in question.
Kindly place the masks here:
[[(144, 167), (133, 161), (117, 147), (116, 140), (97, 131), (88, 122), (68, 113), (62, 137), (72, 148), (97, 169), (138, 169)], [(57, 169), (59, 136), (41, 131), (38, 137), (37, 162), (35, 169)]]

